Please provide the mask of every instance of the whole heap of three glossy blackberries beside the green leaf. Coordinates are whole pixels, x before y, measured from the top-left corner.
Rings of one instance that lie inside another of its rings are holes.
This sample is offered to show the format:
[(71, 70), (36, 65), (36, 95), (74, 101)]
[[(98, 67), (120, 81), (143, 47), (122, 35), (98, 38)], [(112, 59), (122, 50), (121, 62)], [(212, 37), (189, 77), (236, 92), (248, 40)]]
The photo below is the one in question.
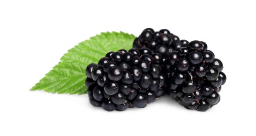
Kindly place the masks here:
[(219, 103), (222, 69), (205, 42), (147, 28), (128, 52), (108, 52), (88, 65), (86, 86), (90, 103), (107, 111), (143, 108), (164, 94), (187, 109), (206, 111)]

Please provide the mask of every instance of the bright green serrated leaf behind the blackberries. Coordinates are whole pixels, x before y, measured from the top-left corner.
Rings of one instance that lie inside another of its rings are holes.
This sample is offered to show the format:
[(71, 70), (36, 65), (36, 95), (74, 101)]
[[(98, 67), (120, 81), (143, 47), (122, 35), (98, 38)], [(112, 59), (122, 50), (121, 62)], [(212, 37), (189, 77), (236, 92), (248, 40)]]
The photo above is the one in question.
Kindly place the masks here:
[(45, 90), (59, 94), (85, 94), (85, 69), (97, 63), (109, 51), (129, 50), (135, 36), (124, 32), (102, 32), (79, 43), (64, 54), (61, 62), (30, 90)]

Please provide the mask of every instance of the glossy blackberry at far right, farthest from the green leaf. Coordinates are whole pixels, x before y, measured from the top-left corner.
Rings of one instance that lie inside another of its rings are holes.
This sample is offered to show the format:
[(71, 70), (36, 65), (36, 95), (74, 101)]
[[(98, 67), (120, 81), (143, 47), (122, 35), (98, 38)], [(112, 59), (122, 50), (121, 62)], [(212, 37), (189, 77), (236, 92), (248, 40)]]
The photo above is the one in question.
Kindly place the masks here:
[(226, 82), (223, 64), (205, 42), (186, 44), (186, 49), (173, 51), (165, 59), (168, 93), (187, 109), (206, 111), (219, 103), (219, 88)]

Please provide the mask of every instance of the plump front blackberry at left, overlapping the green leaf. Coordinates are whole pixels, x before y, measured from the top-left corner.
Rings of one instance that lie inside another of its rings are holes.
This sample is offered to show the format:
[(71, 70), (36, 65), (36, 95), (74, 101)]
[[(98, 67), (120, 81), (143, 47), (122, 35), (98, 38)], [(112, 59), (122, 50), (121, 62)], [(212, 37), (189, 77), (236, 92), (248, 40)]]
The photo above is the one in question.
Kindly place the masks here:
[[(152, 34), (147, 29), (140, 40), (147, 42)], [(107, 111), (146, 107), (165, 94), (162, 63), (162, 55), (146, 47), (108, 52), (97, 64), (86, 67), (90, 103)]]

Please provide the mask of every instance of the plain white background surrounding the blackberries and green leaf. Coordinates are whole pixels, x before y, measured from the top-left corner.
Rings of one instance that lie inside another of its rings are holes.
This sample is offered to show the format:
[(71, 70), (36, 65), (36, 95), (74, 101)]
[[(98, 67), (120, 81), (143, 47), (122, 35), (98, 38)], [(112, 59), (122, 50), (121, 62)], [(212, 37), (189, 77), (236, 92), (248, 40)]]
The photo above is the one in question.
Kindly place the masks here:
[[(252, 2), (0, 1), (0, 135), (255, 135)], [(107, 112), (87, 95), (29, 91), (77, 43), (147, 27), (207, 42), (227, 75), (217, 106), (192, 111), (165, 96)]]

